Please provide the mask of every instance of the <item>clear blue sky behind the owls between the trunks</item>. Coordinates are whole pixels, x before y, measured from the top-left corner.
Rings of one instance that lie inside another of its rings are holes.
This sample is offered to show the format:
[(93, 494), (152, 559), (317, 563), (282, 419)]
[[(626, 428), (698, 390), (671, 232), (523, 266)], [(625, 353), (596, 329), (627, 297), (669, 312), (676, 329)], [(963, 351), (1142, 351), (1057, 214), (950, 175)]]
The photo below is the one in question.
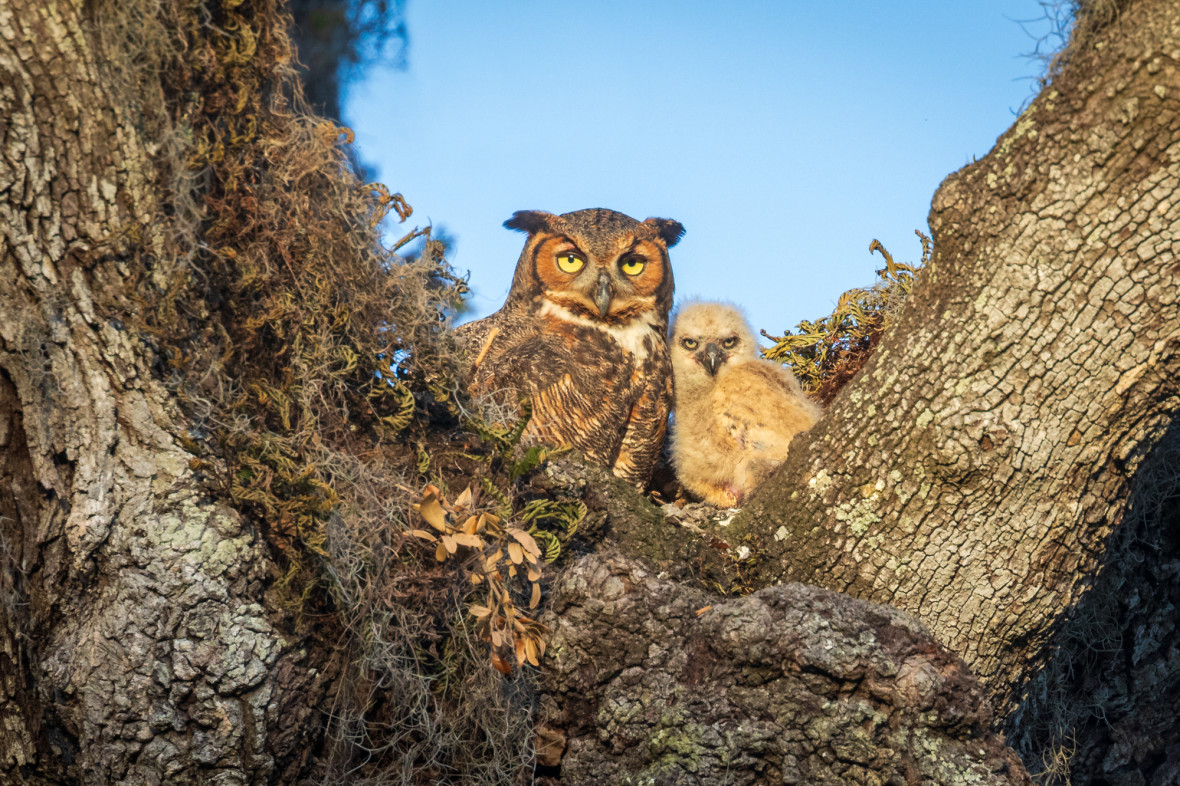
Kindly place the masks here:
[[(1037, 0), (408, 0), (407, 67), (345, 103), (361, 158), (455, 240), (467, 317), (504, 301), (514, 210), (664, 216), (677, 301), (755, 330), (917, 260), (930, 201), (1030, 97)], [(404, 227), (393, 227), (400, 236)]]

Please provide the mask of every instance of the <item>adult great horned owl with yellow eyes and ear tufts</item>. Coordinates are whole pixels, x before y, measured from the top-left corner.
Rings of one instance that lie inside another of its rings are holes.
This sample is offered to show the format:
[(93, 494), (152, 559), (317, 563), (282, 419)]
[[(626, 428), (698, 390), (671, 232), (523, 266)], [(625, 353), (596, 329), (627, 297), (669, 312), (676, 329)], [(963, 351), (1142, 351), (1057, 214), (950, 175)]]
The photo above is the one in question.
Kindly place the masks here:
[(529, 232), (507, 300), (457, 330), (472, 395), (532, 399), (524, 441), (570, 445), (647, 484), (671, 407), (668, 248), (684, 228), (614, 210), (520, 210)]

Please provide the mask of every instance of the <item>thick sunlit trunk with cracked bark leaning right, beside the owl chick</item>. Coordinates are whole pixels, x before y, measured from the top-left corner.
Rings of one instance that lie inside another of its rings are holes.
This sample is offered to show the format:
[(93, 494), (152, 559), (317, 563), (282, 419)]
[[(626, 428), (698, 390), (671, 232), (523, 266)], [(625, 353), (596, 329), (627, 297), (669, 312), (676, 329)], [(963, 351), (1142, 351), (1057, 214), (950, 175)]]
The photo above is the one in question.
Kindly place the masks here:
[(1180, 17), (1140, 0), (939, 189), (898, 323), (730, 529), (763, 581), (914, 614), (1009, 707), (1180, 408), (1178, 183)]

